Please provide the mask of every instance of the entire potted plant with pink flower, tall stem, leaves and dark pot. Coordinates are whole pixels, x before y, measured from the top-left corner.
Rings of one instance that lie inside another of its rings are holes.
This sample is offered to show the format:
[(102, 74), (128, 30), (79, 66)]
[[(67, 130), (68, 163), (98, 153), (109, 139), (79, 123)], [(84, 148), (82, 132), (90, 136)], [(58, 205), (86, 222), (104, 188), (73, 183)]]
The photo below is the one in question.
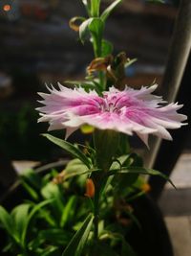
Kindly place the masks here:
[[(148, 147), (149, 134), (171, 139), (167, 128), (180, 128), (186, 117), (177, 112), (181, 105), (163, 105), (152, 94), (157, 84), (125, 86), (124, 69), (133, 60), (124, 53), (113, 56), (112, 44), (103, 39), (105, 22), (121, 0), (102, 13), (100, 0), (82, 2), (88, 18), (74, 17), (70, 26), (82, 42), (93, 45), (88, 76), (70, 81), (73, 88), (60, 83), (59, 89), (48, 87), (49, 93), (39, 93), (44, 106), (37, 108), (39, 122), (49, 122), (50, 130), (66, 130), (65, 140), (44, 136), (73, 159), (62, 164), (61, 172), (48, 166), (44, 175), (32, 170), (21, 175), (22, 186), (4, 205), (9, 208), (12, 198), (14, 204), (19, 197), (25, 201), (10, 214), (0, 207), (0, 222), (8, 233), (3, 251), (26, 256), (170, 256), (159, 209), (143, 196), (149, 186), (142, 175), (168, 177), (144, 168), (128, 137), (136, 133)], [(67, 140), (78, 128), (92, 132), (86, 144)]]

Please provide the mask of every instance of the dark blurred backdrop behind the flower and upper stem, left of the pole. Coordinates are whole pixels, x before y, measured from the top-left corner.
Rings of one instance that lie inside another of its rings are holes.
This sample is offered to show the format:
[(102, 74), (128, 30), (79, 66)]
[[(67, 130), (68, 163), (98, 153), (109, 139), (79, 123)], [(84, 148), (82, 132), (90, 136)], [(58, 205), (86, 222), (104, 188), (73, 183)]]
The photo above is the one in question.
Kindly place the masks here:
[[(111, 1), (102, 1), (105, 8)], [(115, 54), (125, 51), (138, 62), (126, 71), (127, 84), (159, 84), (165, 68), (179, 1), (156, 4), (124, 0), (108, 19), (105, 37)], [(39, 136), (37, 91), (83, 79), (94, 58), (69, 28), (73, 16), (85, 16), (80, 0), (0, 0), (0, 153), (11, 160), (49, 160), (59, 154)], [(139, 147), (139, 145), (138, 145)]]

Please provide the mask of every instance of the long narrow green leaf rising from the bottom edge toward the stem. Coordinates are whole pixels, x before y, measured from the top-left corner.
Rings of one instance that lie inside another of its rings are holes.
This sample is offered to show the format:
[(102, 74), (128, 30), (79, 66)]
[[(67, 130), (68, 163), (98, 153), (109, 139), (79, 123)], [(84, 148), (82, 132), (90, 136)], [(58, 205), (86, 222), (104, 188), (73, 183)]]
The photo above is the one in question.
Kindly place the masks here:
[(80, 256), (87, 242), (93, 224), (93, 214), (89, 214), (81, 228), (74, 234), (73, 239), (64, 250), (62, 256)]

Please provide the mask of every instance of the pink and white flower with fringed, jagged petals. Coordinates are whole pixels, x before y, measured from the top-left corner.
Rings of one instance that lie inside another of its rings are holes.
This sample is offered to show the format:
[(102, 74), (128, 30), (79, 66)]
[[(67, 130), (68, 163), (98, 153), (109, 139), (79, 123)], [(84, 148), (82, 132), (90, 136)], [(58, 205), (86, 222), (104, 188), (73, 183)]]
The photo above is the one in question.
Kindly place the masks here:
[[(50, 128), (66, 128), (68, 137), (84, 124), (99, 129), (113, 129), (138, 137), (148, 145), (148, 134), (172, 140), (166, 128), (180, 128), (186, 116), (177, 113), (182, 105), (163, 105), (161, 97), (152, 95), (157, 84), (141, 89), (126, 87), (123, 91), (111, 87), (103, 92), (103, 97), (96, 91), (87, 93), (82, 88), (67, 88), (58, 83), (59, 89), (48, 88), (50, 94), (39, 93), (39, 101), (44, 106), (38, 107), (39, 122), (49, 122)], [(162, 105), (161, 105), (162, 104)]]

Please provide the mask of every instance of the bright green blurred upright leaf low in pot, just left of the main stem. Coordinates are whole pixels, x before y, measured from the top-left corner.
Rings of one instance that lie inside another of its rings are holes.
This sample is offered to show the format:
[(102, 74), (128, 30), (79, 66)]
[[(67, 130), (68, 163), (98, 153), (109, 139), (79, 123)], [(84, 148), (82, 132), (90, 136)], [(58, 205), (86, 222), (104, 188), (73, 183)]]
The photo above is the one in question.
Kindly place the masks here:
[(60, 226), (64, 227), (64, 225), (67, 222), (70, 222), (75, 213), (75, 206), (76, 206), (77, 198), (75, 196), (72, 196), (67, 204), (65, 205), (65, 208), (62, 213), (61, 221), (60, 221)]

